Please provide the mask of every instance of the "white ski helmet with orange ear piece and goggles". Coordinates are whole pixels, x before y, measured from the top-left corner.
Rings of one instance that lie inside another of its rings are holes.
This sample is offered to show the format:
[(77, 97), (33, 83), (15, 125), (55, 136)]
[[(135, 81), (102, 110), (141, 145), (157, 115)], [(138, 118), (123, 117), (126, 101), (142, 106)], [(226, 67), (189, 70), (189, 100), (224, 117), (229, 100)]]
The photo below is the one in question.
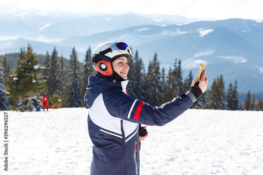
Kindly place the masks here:
[(125, 42), (108, 41), (98, 45), (92, 52), (92, 65), (102, 75), (113, 74), (112, 62), (118, 57), (131, 54), (130, 47)]

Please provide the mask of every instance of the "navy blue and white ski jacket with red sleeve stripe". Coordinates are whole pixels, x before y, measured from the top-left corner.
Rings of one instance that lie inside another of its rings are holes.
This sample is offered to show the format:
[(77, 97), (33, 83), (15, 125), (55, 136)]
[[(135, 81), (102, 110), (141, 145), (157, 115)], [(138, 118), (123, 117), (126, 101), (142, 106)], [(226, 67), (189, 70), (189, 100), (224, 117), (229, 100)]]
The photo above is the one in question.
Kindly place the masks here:
[(128, 80), (115, 82), (107, 76), (89, 76), (85, 92), (88, 130), (93, 143), (91, 175), (139, 174), (139, 123), (163, 126), (196, 101), (193, 93), (152, 107), (127, 95)]

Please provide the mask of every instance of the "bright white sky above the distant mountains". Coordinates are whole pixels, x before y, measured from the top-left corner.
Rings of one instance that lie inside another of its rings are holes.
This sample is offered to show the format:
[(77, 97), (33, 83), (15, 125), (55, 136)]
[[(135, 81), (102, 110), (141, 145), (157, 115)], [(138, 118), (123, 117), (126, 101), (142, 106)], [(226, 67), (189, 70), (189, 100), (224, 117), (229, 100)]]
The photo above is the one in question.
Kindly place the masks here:
[(0, 3), (43, 11), (122, 12), (181, 15), (188, 18), (263, 19), (262, 0), (0, 0)]

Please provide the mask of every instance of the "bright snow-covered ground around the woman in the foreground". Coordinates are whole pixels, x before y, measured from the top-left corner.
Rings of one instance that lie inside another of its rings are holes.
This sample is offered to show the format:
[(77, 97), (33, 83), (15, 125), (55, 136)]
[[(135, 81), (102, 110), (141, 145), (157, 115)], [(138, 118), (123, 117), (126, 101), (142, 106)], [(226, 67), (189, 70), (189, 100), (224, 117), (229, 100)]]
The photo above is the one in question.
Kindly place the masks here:
[[(89, 174), (87, 109), (6, 112), (9, 164), (4, 171), (1, 144), (0, 174)], [(262, 126), (262, 111), (189, 109), (165, 126), (147, 127), (140, 174), (263, 174)]]

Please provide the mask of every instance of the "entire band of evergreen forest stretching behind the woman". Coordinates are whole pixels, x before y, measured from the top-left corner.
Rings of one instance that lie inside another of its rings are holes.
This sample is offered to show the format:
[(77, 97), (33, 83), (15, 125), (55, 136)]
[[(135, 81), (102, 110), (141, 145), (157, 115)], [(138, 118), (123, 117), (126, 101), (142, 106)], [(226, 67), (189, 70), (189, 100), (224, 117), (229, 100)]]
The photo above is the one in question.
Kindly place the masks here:
[[(153, 54), (145, 70), (138, 50), (128, 58), (130, 70), (127, 92), (132, 98), (159, 106), (173, 97), (189, 91), (194, 79), (190, 71), (183, 77), (181, 60), (174, 58), (168, 70), (160, 68), (157, 53)], [(51, 108), (84, 107), (83, 97), (88, 77), (95, 75), (91, 64), (92, 49), (86, 50), (84, 62), (78, 61), (73, 47), (69, 60), (58, 56), (54, 47), (52, 53), (37, 55), (31, 45), (18, 53), (0, 57), (0, 110), (30, 111), (42, 108), (41, 97), (47, 93)], [(80, 59), (81, 60), (81, 59)], [(250, 91), (242, 102), (239, 101), (238, 83), (232, 82), (225, 88), (223, 76), (219, 75), (210, 83), (210, 89), (191, 108), (222, 110), (263, 110), (262, 96)], [(262, 93), (263, 94), (263, 93)]]

